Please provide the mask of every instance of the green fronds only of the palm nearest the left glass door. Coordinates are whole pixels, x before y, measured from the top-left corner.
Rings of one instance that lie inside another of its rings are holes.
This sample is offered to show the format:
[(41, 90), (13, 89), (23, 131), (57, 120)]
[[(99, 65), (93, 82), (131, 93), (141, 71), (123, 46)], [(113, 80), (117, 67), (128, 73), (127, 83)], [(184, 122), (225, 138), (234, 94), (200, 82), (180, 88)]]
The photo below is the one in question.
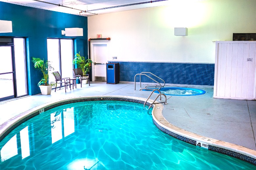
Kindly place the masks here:
[(50, 84), (48, 84), (48, 80), (49, 80), (48, 73), (49, 71), (54, 70), (54, 68), (51, 66), (51, 62), (48, 60), (44, 62), (44, 60), (40, 58), (34, 58), (34, 57), (32, 57), (32, 62), (34, 63), (35, 69), (40, 70), (43, 73), (43, 77), (37, 85), (40, 86), (41, 84), (43, 84), (44, 86), (48, 86), (48, 85), (55, 86), (56, 83), (54, 82), (51, 82)]

